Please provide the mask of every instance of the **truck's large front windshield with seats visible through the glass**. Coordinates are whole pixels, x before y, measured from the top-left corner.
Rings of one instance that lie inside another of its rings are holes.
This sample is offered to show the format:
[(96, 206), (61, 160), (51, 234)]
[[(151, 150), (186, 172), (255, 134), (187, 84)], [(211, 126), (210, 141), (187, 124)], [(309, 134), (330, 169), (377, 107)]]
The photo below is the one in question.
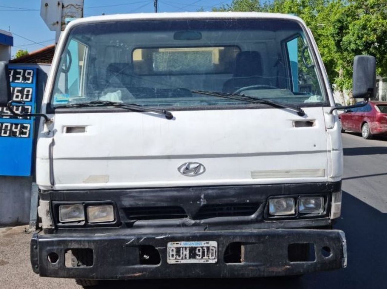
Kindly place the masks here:
[(300, 106), (325, 103), (293, 20), (152, 20), (75, 26), (51, 106), (114, 101), (154, 107), (257, 106), (193, 91)]

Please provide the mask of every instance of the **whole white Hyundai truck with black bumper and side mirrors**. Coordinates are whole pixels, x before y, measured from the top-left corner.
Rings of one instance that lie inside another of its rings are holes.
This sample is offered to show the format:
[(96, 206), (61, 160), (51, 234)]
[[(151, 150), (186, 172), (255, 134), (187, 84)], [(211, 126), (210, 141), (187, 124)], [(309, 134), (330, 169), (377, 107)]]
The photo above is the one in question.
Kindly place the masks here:
[[(7, 79), (2, 64), (4, 90)], [(356, 56), (354, 97), (372, 97), (374, 79), (375, 58)], [(332, 230), (335, 109), (313, 36), (292, 15), (70, 22), (35, 115), (34, 272), (87, 286), (346, 267), (344, 232)]]

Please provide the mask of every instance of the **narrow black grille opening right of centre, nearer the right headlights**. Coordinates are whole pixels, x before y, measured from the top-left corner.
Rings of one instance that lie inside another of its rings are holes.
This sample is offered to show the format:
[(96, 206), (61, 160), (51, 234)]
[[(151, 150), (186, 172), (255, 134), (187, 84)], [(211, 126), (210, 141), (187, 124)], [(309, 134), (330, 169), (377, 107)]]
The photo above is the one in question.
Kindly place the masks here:
[(259, 208), (259, 204), (206, 204), (196, 213), (194, 219), (207, 219), (215, 217), (251, 216)]

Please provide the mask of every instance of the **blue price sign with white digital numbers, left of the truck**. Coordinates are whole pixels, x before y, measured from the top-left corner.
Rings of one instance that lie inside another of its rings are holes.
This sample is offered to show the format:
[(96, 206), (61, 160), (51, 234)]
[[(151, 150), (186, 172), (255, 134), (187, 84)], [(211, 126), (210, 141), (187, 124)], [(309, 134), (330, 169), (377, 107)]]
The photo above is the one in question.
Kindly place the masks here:
[[(36, 100), (36, 68), (9, 65), (12, 100), (17, 113), (34, 113)], [(15, 117), (8, 108), (0, 112), (0, 175), (31, 176), (34, 117)]]

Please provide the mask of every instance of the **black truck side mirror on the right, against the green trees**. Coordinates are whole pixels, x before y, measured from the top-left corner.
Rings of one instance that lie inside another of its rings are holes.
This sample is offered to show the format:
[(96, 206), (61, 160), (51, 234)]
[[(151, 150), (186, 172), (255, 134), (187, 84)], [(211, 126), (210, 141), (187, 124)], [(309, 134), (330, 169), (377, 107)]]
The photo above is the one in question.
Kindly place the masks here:
[(357, 55), (353, 59), (353, 98), (373, 98), (376, 93), (376, 58)]

